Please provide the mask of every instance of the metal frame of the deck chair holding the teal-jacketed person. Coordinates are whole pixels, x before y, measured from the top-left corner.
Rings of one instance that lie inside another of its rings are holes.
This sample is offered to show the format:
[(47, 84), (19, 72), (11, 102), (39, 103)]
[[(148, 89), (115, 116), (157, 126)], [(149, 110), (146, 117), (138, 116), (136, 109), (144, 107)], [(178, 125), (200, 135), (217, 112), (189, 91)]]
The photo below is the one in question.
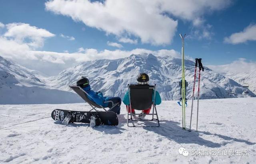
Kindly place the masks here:
[[(158, 119), (158, 114), (157, 114), (157, 110), (156, 110), (156, 105), (155, 104), (155, 99), (156, 99), (156, 84), (154, 85), (153, 88), (149, 88), (149, 89), (154, 89), (154, 98), (153, 98), (153, 102), (151, 103), (151, 107), (153, 106), (153, 111), (152, 114), (143, 114), (143, 115), (152, 115), (152, 119), (132, 119), (132, 115), (142, 115), (142, 114), (132, 114), (132, 103), (131, 103), (131, 95), (130, 95), (130, 84), (128, 84), (128, 94), (129, 94), (129, 102), (130, 105), (128, 105), (128, 107), (130, 108), (130, 118), (129, 118), (129, 110), (127, 109), (127, 126), (128, 127), (160, 127), (160, 122)], [(135, 109), (137, 110), (137, 109)], [(154, 113), (154, 111), (156, 111), (156, 113)], [(156, 118), (154, 118), (154, 115), (156, 115)], [(131, 121), (131, 123), (133, 124), (133, 126), (129, 125), (129, 120)], [(137, 125), (134, 125), (135, 121), (154, 121), (156, 120), (158, 125), (157, 126), (143, 126), (142, 123), (136, 123)]]

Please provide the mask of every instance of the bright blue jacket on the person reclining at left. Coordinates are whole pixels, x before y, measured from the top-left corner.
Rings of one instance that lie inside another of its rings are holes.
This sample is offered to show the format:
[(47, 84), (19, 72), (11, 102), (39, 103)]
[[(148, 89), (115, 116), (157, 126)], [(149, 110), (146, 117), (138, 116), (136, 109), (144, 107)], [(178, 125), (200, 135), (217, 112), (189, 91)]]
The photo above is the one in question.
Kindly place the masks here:
[(93, 90), (91, 90), (90, 85), (84, 87), (83, 90), (85, 90), (90, 95), (88, 96), (88, 98), (91, 101), (97, 103), (98, 105), (102, 105), (103, 107), (108, 107), (108, 103), (104, 103), (108, 101), (108, 97), (103, 97), (103, 94), (101, 92), (94, 92)]

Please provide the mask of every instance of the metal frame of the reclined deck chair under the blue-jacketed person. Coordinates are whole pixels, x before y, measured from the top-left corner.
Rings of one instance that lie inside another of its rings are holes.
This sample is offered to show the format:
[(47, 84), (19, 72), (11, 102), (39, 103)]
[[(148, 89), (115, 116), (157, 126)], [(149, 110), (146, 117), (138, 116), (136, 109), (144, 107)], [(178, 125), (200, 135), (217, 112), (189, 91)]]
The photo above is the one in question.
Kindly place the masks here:
[(74, 90), (74, 92), (76, 92), (76, 94), (78, 94), (85, 102), (87, 102), (87, 103), (92, 107), (92, 109), (90, 109), (89, 111), (92, 111), (92, 110), (99, 111), (99, 110), (96, 109), (96, 107), (97, 107), (97, 108), (100, 108), (100, 109), (104, 109), (104, 111), (108, 112), (108, 111), (110, 111), (113, 107), (115, 107), (116, 105), (118, 105), (118, 103), (115, 103), (115, 104), (114, 104), (114, 102), (112, 102), (112, 101), (103, 102), (103, 103), (112, 103), (112, 107), (111, 107), (110, 109), (106, 110), (102, 105), (98, 105), (98, 104), (96, 104), (95, 102), (92, 102), (92, 101), (88, 98), (88, 96), (89, 96), (90, 98), (92, 98), (92, 97), (91, 97), (85, 90), (83, 90), (82, 87), (80, 87), (80, 86), (69, 86), (69, 87), (70, 87), (72, 90), (74, 90), (72, 87), (79, 88), (80, 90), (82, 90), (82, 91), (85, 93), (85, 98), (82, 98), (82, 96), (80, 96), (80, 95)]

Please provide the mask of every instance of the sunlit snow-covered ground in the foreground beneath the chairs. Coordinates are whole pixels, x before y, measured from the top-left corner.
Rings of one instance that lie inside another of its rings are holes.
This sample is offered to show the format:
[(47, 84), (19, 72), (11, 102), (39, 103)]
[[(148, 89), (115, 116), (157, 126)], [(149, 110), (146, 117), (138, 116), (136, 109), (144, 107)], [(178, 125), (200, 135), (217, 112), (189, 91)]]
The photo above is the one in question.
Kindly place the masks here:
[[(188, 101), (186, 127), (190, 105)], [(89, 106), (0, 105), (0, 163), (256, 163), (256, 98), (200, 101), (198, 132), (182, 130), (176, 101), (158, 105), (160, 127), (144, 128), (126, 126), (124, 105), (117, 127), (94, 129), (83, 123), (56, 123), (50, 117), (56, 108)], [(195, 114), (192, 123), (194, 130)], [(188, 156), (179, 154), (180, 148)]]

